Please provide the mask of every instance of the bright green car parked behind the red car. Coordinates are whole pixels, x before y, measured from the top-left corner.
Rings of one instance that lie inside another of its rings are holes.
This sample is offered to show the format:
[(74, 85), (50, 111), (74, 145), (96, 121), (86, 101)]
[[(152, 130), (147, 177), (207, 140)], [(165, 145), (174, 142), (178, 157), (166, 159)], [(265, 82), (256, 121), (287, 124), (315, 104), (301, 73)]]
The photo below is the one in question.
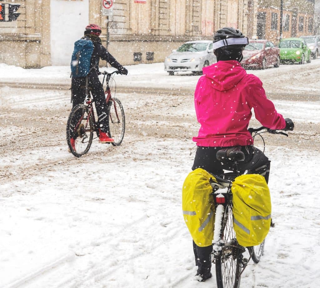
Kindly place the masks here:
[(279, 43), (281, 62), (311, 62), (311, 50), (302, 38), (284, 38)]

